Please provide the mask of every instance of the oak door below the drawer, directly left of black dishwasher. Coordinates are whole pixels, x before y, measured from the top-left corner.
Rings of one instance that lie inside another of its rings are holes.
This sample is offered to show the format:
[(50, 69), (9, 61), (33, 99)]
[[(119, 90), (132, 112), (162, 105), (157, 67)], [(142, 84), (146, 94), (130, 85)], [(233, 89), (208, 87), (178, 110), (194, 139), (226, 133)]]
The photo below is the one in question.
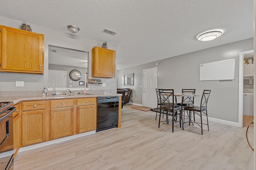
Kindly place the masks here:
[(96, 106), (79, 106), (77, 108), (77, 132), (96, 130)]

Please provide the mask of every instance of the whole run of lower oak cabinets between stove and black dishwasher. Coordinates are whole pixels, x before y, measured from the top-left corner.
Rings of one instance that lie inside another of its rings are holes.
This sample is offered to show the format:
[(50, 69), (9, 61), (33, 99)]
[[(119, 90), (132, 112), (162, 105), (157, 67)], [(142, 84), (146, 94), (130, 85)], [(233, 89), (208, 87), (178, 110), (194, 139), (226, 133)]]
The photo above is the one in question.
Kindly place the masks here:
[(24, 101), (20, 109), (14, 115), (14, 139), (20, 136), (15, 148), (96, 130), (96, 98)]

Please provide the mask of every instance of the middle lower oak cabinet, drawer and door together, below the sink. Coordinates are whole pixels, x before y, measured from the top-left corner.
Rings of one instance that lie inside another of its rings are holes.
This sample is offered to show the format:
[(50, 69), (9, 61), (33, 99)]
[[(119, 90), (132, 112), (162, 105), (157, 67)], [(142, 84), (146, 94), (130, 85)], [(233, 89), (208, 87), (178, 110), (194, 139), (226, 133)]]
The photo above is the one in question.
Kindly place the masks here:
[(74, 100), (50, 101), (50, 139), (58, 139), (74, 134)]

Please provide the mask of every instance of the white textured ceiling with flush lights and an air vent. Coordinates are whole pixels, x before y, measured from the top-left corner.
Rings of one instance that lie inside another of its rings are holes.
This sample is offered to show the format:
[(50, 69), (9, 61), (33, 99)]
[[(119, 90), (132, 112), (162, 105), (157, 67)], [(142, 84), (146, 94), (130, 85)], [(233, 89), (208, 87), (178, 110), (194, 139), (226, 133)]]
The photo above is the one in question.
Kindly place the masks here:
[[(2, 0), (0, 16), (117, 45), (127, 68), (253, 37), (253, 0)], [(104, 29), (118, 32), (115, 36)], [(213, 41), (196, 36), (222, 30)]]

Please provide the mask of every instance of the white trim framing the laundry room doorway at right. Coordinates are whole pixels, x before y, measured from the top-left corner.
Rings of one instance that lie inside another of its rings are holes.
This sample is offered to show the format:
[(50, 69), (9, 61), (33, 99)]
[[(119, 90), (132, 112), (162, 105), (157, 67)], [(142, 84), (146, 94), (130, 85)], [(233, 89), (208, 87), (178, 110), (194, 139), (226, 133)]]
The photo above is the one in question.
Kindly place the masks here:
[(254, 50), (239, 53), (238, 78), (238, 127), (243, 127), (243, 88), (244, 88), (244, 55), (254, 53)]

